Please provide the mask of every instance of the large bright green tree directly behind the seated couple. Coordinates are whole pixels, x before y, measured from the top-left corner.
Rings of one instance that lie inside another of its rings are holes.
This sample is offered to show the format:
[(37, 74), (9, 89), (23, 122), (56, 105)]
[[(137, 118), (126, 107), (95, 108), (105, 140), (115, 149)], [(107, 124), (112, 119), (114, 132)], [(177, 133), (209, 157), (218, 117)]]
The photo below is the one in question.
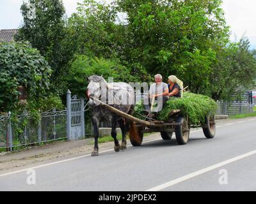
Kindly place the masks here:
[[(228, 41), (221, 1), (118, 1), (132, 36), (129, 58), (209, 94), (216, 52)], [(210, 91), (211, 92), (211, 91)]]

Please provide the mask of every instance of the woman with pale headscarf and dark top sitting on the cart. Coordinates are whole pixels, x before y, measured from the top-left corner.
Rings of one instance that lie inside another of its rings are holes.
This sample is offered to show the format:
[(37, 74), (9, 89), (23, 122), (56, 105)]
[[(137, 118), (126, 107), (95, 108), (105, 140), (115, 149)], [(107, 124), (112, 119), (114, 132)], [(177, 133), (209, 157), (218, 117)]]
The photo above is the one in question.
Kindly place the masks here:
[(168, 88), (169, 88), (169, 97), (181, 97), (182, 98), (182, 89), (183, 82), (179, 78), (171, 75), (168, 77)]

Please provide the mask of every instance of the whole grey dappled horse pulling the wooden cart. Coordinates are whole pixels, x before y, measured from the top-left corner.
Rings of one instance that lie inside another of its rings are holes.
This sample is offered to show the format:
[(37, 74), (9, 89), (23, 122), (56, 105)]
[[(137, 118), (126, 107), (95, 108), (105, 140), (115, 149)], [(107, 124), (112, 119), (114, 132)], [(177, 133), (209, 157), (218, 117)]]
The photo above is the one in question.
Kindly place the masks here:
[[(111, 136), (115, 141), (115, 151), (126, 149), (126, 134), (129, 131), (129, 120), (123, 119), (116, 113), (110, 112), (108, 109), (100, 106), (97, 101), (92, 98), (99, 99), (122, 112), (132, 114), (134, 108), (135, 94), (131, 85), (124, 82), (108, 83), (103, 77), (92, 75), (88, 77), (87, 97), (89, 98), (88, 105), (92, 108), (92, 125), (94, 133), (94, 149), (92, 156), (99, 155), (98, 138), (99, 138), (99, 123), (108, 121), (111, 124)], [(116, 139), (116, 126), (119, 124), (122, 130), (122, 145), (119, 145)]]

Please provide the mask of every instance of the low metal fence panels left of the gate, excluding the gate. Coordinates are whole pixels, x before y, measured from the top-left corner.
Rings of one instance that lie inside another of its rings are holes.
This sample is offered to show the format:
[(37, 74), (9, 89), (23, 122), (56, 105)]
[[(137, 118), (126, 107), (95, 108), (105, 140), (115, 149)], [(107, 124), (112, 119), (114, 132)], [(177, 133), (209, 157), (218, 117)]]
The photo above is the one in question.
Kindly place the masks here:
[(0, 117), (0, 149), (12, 151), (15, 147), (67, 138), (66, 110), (52, 108), (41, 113), (39, 120), (33, 119), (26, 111), (14, 119), (11, 114)]

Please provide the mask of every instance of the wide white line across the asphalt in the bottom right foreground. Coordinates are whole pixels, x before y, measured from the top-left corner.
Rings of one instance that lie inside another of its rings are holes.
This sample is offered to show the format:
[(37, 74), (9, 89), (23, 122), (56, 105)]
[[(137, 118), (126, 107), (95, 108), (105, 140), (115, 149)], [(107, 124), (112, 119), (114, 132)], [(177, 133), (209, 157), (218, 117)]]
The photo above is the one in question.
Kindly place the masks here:
[(225, 166), (227, 164), (233, 163), (235, 161), (238, 161), (239, 159), (244, 159), (245, 157), (252, 156), (253, 154), (256, 154), (256, 150), (253, 150), (252, 152), (248, 152), (246, 154), (242, 154), (240, 156), (234, 157), (232, 159), (228, 159), (226, 161), (223, 161), (218, 164), (214, 164), (212, 166), (209, 166), (207, 168), (204, 168), (199, 171), (195, 171), (193, 173), (189, 173), (188, 175), (185, 175), (183, 177), (180, 177), (178, 179), (170, 180), (169, 182), (166, 182), (164, 184), (161, 184), (156, 187), (152, 187), (151, 189), (147, 189), (146, 191), (161, 191), (162, 189), (165, 189), (166, 187), (173, 186), (175, 184), (179, 184), (180, 182), (184, 182), (185, 180), (192, 179), (193, 177), (197, 177), (198, 175), (201, 175), (203, 173), (207, 173), (208, 171), (214, 170), (216, 168), (220, 168), (221, 166)]

